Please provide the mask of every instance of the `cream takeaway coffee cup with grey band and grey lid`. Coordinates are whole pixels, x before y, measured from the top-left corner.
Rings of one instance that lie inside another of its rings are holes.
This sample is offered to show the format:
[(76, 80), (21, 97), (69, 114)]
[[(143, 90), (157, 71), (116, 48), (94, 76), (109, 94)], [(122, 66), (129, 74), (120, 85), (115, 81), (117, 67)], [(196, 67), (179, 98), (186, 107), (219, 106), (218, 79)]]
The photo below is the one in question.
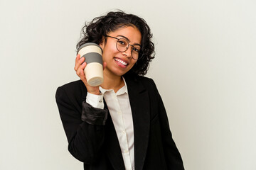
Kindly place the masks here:
[(90, 86), (100, 86), (103, 82), (102, 48), (93, 42), (87, 42), (78, 49), (80, 57), (85, 57), (85, 77)]

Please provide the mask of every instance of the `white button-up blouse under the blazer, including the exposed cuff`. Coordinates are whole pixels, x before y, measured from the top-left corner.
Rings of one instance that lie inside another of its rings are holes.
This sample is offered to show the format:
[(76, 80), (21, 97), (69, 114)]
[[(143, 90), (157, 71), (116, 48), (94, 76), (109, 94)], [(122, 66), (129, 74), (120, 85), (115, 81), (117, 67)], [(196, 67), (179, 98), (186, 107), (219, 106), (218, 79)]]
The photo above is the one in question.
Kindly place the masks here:
[[(124, 77), (123, 77), (124, 80)], [(134, 170), (134, 129), (127, 84), (114, 93), (113, 89), (102, 89), (101, 95), (87, 93), (86, 102), (95, 108), (104, 108), (103, 97), (117, 132), (125, 169)]]

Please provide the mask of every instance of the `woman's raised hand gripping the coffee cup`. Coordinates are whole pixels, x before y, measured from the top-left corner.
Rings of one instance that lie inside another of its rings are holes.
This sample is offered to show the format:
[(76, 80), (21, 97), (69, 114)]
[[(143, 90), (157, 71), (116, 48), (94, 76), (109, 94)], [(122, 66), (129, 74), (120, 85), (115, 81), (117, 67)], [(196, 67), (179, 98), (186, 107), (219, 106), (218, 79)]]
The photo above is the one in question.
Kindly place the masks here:
[[(87, 83), (86, 77), (85, 77), (85, 73), (84, 73), (84, 69), (87, 65), (85, 61), (85, 57), (80, 58), (80, 55), (78, 54), (77, 57), (75, 58), (75, 72), (78, 75), (78, 77), (80, 77), (80, 79), (82, 80), (82, 82), (85, 84), (87, 91), (90, 94), (96, 94), (96, 95), (100, 95), (100, 89), (99, 86), (90, 86)], [(105, 68), (106, 63), (103, 63), (103, 68)]]

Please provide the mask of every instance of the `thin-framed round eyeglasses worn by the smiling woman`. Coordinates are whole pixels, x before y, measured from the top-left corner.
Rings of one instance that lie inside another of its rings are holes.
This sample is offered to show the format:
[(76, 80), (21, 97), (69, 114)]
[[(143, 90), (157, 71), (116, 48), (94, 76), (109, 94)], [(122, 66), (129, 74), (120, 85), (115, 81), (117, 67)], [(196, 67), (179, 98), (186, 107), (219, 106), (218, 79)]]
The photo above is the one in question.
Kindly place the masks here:
[(116, 47), (119, 52), (125, 52), (129, 49), (129, 46), (131, 46), (132, 47), (132, 53), (131, 53), (132, 58), (134, 60), (139, 59), (140, 48), (141, 48), (139, 45), (130, 45), (129, 42), (124, 38), (115, 38), (115, 37), (112, 37), (109, 35), (106, 35), (106, 37), (117, 39)]

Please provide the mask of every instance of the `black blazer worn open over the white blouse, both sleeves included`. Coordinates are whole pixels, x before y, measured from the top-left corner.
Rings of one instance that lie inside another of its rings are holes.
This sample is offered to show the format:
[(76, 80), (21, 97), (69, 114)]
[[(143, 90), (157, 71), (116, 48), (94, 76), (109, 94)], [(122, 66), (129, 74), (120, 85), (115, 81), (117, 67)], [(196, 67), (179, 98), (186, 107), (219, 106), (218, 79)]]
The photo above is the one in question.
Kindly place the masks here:
[[(134, 123), (135, 170), (184, 169), (154, 81), (139, 76), (124, 79)], [(85, 103), (86, 95), (87, 89), (81, 80), (60, 86), (55, 95), (68, 137), (68, 150), (84, 162), (86, 170), (123, 170), (122, 153), (107, 105), (105, 103), (105, 110), (92, 108)], [(89, 117), (96, 115), (91, 122), (82, 118), (87, 113)]]

